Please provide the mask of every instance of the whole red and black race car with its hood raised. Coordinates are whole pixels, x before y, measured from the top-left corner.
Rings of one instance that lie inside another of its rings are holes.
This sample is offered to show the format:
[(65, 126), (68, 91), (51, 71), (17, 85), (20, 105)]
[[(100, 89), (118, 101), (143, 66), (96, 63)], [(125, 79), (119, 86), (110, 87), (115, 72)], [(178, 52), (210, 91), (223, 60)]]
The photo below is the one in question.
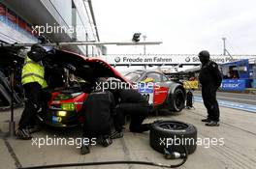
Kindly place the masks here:
[[(99, 77), (114, 77), (121, 82), (134, 84), (138, 82), (139, 92), (147, 97), (149, 103), (155, 108), (168, 108), (181, 111), (184, 107), (185, 90), (181, 84), (172, 82), (164, 74), (156, 71), (136, 70), (123, 76), (108, 63), (98, 58), (87, 58), (76, 53), (54, 50), (48, 56), (50, 88), (66, 86), (52, 91), (48, 101), (45, 122), (53, 127), (72, 127), (82, 123), (82, 104), (87, 95), (95, 87)], [(62, 70), (54, 76), (54, 71)], [(62, 75), (60, 75), (62, 74)], [(60, 76), (64, 80), (57, 80)], [(152, 78), (153, 81), (146, 81)], [(56, 85), (56, 81), (65, 81)], [(151, 85), (151, 87), (150, 87)]]

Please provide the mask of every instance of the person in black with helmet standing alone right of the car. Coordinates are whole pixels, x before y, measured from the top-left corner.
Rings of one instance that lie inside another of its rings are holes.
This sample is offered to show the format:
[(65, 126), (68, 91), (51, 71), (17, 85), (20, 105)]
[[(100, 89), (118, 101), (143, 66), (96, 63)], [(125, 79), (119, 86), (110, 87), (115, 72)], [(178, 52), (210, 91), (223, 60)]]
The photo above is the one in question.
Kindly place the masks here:
[(209, 60), (209, 53), (203, 50), (199, 53), (202, 67), (199, 74), (199, 81), (202, 84), (202, 98), (208, 110), (208, 118), (202, 122), (207, 122), (208, 127), (219, 126), (219, 106), (216, 99), (216, 91), (220, 87), (222, 77), (218, 70), (218, 65)]

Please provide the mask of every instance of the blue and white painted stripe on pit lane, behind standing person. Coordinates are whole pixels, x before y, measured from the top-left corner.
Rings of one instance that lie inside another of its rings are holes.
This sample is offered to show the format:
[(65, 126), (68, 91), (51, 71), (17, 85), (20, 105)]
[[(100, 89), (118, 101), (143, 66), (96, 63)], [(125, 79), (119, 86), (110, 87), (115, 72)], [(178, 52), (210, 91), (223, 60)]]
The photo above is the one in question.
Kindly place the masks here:
[[(203, 102), (202, 97), (194, 97), (194, 100), (197, 102)], [(218, 103), (220, 106), (223, 106), (223, 107), (229, 107), (229, 108), (234, 108), (234, 109), (239, 109), (239, 110), (256, 113), (256, 105), (244, 104), (244, 103), (239, 103), (239, 102), (231, 102), (231, 101), (226, 101), (226, 100), (221, 100), (221, 99), (218, 99)]]

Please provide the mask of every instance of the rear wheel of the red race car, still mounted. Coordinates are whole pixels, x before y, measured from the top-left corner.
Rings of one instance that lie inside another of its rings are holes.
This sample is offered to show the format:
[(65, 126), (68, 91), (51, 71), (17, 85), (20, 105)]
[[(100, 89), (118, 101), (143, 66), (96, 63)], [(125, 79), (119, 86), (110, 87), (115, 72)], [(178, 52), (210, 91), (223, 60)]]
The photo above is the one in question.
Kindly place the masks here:
[(185, 94), (181, 89), (176, 89), (173, 97), (173, 108), (176, 112), (185, 107)]

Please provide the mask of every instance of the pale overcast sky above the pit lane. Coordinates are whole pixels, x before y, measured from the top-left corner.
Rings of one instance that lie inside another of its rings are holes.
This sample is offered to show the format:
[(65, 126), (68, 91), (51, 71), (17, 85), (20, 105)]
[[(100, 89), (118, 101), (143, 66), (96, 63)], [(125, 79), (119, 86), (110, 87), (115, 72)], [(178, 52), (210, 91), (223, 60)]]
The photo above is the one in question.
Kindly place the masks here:
[[(147, 53), (256, 54), (255, 0), (93, 0), (101, 41), (129, 41), (141, 32)], [(142, 39), (143, 41), (143, 39)], [(109, 53), (143, 53), (143, 46), (108, 46)]]

